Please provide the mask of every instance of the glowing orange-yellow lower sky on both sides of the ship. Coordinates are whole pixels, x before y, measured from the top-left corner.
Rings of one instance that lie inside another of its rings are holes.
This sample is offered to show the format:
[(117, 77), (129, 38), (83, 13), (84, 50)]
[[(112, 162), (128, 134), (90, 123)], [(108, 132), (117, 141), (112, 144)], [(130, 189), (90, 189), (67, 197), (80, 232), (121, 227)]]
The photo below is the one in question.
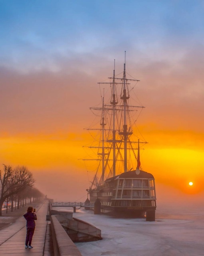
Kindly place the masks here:
[[(156, 184), (167, 185), (185, 194), (202, 193), (203, 134), (180, 129), (158, 130), (149, 123), (141, 129), (149, 142), (140, 152), (142, 168), (154, 175)], [(76, 131), (10, 136), (5, 133), (0, 139), (2, 163), (28, 166), (36, 178), (36, 186), (55, 200), (86, 199), (88, 179), (94, 175), (87, 170), (95, 170), (95, 164), (79, 159), (87, 154), (82, 146), (92, 139), (86, 131)], [(192, 187), (188, 185), (190, 181), (194, 182)]]

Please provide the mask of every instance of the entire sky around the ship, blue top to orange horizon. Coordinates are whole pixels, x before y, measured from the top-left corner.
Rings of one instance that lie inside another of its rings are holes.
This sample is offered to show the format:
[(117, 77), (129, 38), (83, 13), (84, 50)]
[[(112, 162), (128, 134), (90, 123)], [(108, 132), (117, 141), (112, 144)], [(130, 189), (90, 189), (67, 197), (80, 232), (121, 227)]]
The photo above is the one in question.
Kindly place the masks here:
[(92, 154), (83, 148), (93, 139), (89, 108), (101, 104), (108, 89), (97, 83), (112, 76), (114, 59), (123, 72), (126, 51), (127, 72), (140, 80), (135, 100), (146, 107), (136, 122), (148, 141), (143, 170), (179, 193), (204, 193), (201, 3), (11, 2), (0, 10), (2, 164), (27, 166), (48, 197), (54, 182), (61, 197), (69, 186), (86, 197), (96, 169), (81, 160)]

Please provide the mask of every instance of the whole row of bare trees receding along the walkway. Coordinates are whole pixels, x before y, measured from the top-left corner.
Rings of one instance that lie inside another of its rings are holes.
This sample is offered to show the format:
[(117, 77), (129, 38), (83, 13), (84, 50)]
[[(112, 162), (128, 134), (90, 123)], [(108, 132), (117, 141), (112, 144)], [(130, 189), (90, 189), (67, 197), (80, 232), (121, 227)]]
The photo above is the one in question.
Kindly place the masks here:
[(0, 170), (0, 216), (2, 216), (2, 206), (3, 203), (8, 200), (11, 201), (11, 211), (20, 206), (24, 206), (27, 203), (31, 203), (36, 199), (43, 197), (43, 194), (33, 187), (35, 182), (32, 173), (26, 168), (26, 166), (17, 166), (12, 168), (12, 166), (3, 165), (4, 169)]

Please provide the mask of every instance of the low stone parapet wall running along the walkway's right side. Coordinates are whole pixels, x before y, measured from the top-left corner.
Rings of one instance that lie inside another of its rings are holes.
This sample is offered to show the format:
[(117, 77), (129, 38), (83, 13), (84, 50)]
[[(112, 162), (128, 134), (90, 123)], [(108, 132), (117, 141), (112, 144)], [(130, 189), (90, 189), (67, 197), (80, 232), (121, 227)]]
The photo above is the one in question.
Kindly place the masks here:
[(54, 256), (82, 256), (55, 215), (51, 216)]

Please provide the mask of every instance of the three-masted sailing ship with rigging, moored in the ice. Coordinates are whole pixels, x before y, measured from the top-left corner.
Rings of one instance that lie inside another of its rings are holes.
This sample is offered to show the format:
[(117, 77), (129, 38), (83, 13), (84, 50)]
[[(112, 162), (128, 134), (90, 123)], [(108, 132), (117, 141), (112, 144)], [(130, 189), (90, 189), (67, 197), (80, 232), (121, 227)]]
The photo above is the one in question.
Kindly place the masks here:
[[(124, 70), (113, 76), (108, 82), (98, 83), (109, 86), (110, 98), (105, 103), (104, 95), (100, 107), (90, 108), (93, 112), (100, 111), (100, 127), (89, 128), (100, 134), (100, 139), (94, 139), (90, 148), (97, 150), (98, 165), (90, 187), (90, 204), (100, 208), (99, 213), (120, 217), (144, 217), (155, 220), (156, 191), (154, 176), (145, 172), (140, 164), (140, 152), (147, 142), (138, 132), (135, 114), (140, 115), (144, 106), (134, 105), (131, 97), (139, 80), (126, 72), (126, 57)], [(129, 78), (130, 77), (130, 78)], [(134, 118), (132, 122), (131, 119)], [(97, 143), (97, 144), (96, 144)], [(86, 159), (87, 160), (87, 159)], [(92, 159), (93, 160), (93, 159)], [(98, 180), (98, 174), (101, 176)], [(86, 201), (86, 202), (87, 202)]]

